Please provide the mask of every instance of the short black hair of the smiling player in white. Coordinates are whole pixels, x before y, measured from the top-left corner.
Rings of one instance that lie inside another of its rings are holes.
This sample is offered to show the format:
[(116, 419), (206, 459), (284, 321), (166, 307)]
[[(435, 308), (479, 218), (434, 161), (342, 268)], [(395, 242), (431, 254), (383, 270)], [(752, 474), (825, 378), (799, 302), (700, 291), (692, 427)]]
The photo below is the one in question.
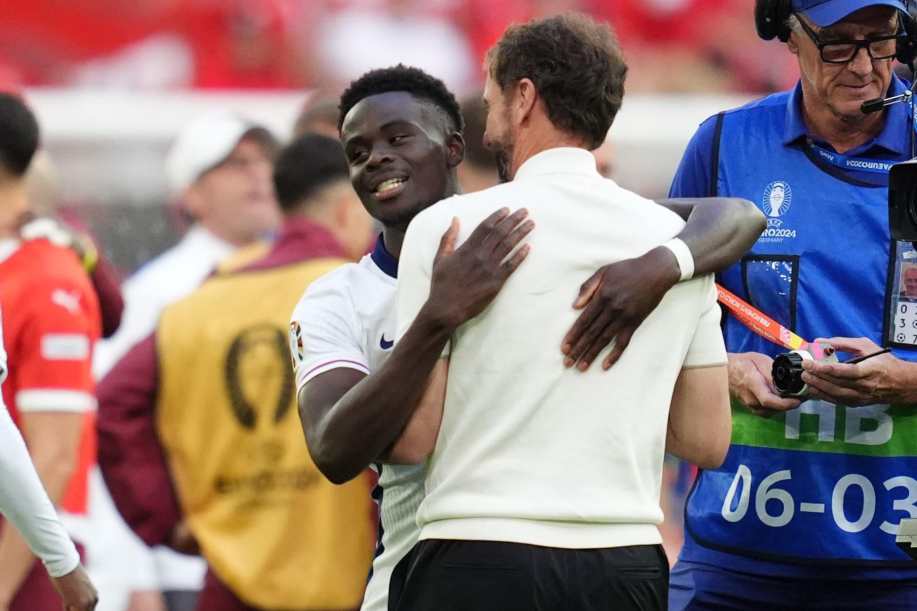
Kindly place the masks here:
[(448, 90), (446, 83), (435, 76), (430, 76), (419, 68), (404, 64), (392, 68), (370, 70), (354, 82), (341, 94), (338, 105), (340, 116), (337, 119), (337, 131), (344, 125), (344, 117), (350, 109), (370, 95), (390, 92), (407, 92), (426, 100), (439, 108), (449, 119), (451, 127), (459, 134), (464, 128), (461, 111), (458, 110), (456, 96)]

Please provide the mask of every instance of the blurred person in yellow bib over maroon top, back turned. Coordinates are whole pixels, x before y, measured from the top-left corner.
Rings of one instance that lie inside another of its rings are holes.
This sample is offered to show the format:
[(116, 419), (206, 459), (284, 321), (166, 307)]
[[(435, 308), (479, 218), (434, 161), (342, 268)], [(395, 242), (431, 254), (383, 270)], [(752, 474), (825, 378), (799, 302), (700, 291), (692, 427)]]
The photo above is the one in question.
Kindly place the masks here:
[(271, 252), (166, 309), (99, 389), (116, 506), (148, 544), (204, 556), (199, 611), (354, 609), (372, 561), (370, 483), (334, 486), (310, 459), (286, 330), (372, 224), (334, 139), (293, 141), (274, 183), (285, 222)]

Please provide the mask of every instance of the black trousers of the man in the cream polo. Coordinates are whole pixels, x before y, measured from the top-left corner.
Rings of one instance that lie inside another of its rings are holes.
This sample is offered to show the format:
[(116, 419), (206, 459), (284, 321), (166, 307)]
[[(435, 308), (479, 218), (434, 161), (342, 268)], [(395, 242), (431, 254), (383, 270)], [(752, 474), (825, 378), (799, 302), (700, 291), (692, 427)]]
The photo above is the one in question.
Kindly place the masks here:
[(595, 550), (422, 540), (392, 574), (390, 611), (663, 611), (661, 545)]

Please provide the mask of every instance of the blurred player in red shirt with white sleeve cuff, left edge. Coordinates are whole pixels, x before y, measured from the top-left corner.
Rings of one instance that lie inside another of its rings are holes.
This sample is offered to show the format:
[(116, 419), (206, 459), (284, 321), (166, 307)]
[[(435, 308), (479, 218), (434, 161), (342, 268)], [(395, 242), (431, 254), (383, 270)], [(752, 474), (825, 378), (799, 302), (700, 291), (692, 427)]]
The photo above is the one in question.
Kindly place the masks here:
[[(15, 96), (0, 94), (0, 305), (10, 366), (3, 398), (61, 521), (80, 539), (81, 530), (89, 536), (87, 476), (95, 462), (91, 362), (101, 320), (92, 283), (72, 250), (19, 238), (28, 213), (21, 177), (37, 145), (35, 117)], [(48, 573), (6, 523), (0, 526), (0, 566), (0, 609), (61, 608)]]

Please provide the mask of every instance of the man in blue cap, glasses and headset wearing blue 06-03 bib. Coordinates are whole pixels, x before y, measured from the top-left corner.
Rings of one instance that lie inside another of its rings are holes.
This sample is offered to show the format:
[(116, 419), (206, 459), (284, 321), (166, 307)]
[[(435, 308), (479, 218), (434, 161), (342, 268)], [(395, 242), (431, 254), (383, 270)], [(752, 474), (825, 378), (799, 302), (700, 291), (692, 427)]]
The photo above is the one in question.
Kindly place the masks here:
[(917, 252), (892, 240), (888, 203), (890, 166), (914, 157), (892, 71), (917, 53), (908, 8), (757, 0), (758, 34), (787, 44), (801, 80), (711, 117), (682, 158), (671, 197), (768, 216), (726, 289), (842, 360), (892, 352), (806, 361), (804, 394), (785, 397), (771, 376), (785, 349), (725, 317), (732, 445), (691, 491), (673, 611), (917, 609), (917, 563), (895, 546), (917, 518), (917, 307), (901, 298)]

